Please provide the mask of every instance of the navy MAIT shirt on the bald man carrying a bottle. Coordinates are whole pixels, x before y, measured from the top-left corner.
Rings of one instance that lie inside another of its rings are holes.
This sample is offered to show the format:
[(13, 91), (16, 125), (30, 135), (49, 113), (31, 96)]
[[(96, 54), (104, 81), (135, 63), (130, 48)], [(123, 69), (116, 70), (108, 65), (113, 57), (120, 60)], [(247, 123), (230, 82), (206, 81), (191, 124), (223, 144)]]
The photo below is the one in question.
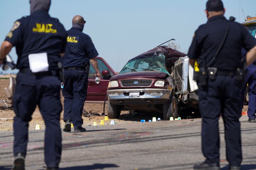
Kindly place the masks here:
[(78, 28), (71, 28), (67, 31), (67, 47), (62, 58), (64, 68), (84, 67), (84, 64), (89, 62), (89, 59), (98, 55), (89, 35)]

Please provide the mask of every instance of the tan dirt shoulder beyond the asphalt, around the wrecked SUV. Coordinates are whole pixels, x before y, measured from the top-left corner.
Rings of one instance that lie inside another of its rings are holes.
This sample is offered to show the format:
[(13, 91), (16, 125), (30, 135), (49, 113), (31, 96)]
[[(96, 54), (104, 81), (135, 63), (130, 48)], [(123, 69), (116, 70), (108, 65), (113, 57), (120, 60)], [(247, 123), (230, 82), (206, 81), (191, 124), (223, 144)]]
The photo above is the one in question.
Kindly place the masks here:
[[(8, 86), (8, 79), (0, 79), (0, 100), (5, 99), (5, 93), (4, 93), (4, 87)], [(63, 105), (64, 98), (61, 96), (61, 103)], [(244, 106), (243, 111), (247, 111), (248, 106)], [(92, 126), (93, 122), (97, 122), (97, 124), (100, 124), (101, 120), (104, 120), (104, 116), (101, 114), (103, 113), (103, 104), (95, 104), (95, 103), (85, 103), (84, 104), (84, 110), (87, 112), (92, 113), (98, 113), (100, 116), (92, 116), (90, 118), (84, 117), (84, 124), (83, 126)], [(107, 105), (105, 107), (105, 111), (107, 114)], [(6, 131), (6, 130), (13, 130), (13, 117), (15, 116), (13, 110), (0, 110), (0, 131)], [(152, 119), (152, 117), (161, 117), (161, 115), (158, 114), (144, 114), (144, 115), (131, 115), (128, 113), (128, 111), (122, 111), (119, 119), (109, 119), (108, 121), (105, 121), (105, 124), (110, 124), (111, 120), (114, 120), (116, 124), (131, 124), (132, 122), (140, 122), (141, 119), (145, 119), (148, 121), (149, 119)], [(36, 107), (35, 112), (32, 115), (32, 120), (29, 122), (29, 129), (35, 129), (36, 124), (40, 124), (41, 129), (44, 129), (44, 119), (38, 109)], [(63, 111), (60, 115), (60, 124), (61, 127), (64, 126), (63, 122)]]

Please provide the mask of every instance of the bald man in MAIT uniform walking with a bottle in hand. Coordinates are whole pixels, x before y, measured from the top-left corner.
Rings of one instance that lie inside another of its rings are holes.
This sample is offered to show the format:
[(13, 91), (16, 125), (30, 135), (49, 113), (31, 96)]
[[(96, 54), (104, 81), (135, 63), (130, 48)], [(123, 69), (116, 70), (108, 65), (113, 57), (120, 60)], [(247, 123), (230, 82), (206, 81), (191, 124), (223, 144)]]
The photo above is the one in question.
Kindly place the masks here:
[(92, 43), (92, 39), (83, 33), (84, 18), (76, 15), (72, 20), (72, 28), (67, 31), (67, 47), (65, 56), (62, 58), (64, 67), (64, 99), (65, 128), (63, 131), (71, 131), (71, 121), (74, 132), (85, 132), (82, 127), (82, 113), (84, 101), (87, 95), (88, 72), (91, 62), (96, 71), (95, 77), (100, 78), (100, 70), (96, 56), (98, 52)]

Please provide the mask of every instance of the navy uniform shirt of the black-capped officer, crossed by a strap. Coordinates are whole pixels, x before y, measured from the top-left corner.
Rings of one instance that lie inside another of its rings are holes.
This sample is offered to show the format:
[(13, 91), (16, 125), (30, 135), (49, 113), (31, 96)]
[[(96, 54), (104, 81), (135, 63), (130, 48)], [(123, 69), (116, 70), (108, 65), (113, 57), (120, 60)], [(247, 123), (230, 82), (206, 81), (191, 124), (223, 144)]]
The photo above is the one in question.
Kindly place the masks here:
[[(210, 61), (224, 38), (231, 22), (227, 39), (219, 55), (212, 65)], [(241, 68), (241, 48), (247, 51), (256, 45), (254, 38), (241, 24), (228, 21), (224, 16), (218, 15), (208, 19), (208, 22), (199, 26), (188, 51), (190, 59), (205, 57), (206, 67), (217, 67), (219, 70), (234, 71)]]

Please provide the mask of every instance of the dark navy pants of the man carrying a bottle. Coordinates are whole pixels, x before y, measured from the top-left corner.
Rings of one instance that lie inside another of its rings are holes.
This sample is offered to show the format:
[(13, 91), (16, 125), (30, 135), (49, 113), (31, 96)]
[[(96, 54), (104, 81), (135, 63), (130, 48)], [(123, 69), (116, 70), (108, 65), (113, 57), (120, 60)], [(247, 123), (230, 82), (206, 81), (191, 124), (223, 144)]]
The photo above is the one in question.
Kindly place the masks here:
[(63, 120), (70, 119), (75, 128), (83, 125), (82, 113), (86, 100), (88, 74), (84, 70), (65, 70)]

